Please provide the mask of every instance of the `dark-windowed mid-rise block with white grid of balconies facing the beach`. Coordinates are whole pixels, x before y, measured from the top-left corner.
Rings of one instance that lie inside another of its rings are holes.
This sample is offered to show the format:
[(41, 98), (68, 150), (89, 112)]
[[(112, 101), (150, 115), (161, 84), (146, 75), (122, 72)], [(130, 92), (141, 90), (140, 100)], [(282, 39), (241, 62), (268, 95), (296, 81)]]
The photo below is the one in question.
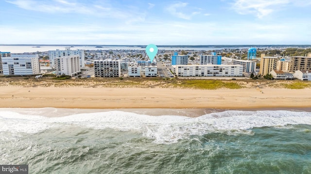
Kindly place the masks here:
[(95, 60), (95, 77), (121, 77), (120, 60)]

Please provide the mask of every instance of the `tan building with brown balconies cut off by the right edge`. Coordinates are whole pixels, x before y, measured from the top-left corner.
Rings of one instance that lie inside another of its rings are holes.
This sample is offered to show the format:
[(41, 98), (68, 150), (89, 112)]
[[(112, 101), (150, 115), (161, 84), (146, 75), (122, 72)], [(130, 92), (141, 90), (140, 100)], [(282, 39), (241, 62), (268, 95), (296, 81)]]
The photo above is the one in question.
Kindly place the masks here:
[[(308, 54), (309, 55), (309, 54)], [(311, 71), (311, 57), (294, 56), (292, 57), (292, 72), (297, 70)]]

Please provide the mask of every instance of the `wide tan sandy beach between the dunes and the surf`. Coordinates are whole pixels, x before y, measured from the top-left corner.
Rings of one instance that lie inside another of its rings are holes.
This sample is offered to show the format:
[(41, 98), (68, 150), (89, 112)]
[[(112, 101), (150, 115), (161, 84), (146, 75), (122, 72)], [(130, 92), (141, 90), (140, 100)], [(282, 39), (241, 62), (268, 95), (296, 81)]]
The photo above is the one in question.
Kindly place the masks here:
[(311, 107), (311, 89), (0, 87), (2, 108), (302, 108)]

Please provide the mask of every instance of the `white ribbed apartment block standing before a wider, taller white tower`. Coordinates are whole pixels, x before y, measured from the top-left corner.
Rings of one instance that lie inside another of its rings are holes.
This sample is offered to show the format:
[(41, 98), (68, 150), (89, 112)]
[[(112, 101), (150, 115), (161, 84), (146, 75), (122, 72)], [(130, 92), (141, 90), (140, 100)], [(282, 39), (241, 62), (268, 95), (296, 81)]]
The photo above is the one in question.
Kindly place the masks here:
[(55, 70), (58, 75), (70, 75), (71, 77), (75, 73), (79, 73), (80, 69), (80, 57), (79, 55), (62, 56), (55, 58)]

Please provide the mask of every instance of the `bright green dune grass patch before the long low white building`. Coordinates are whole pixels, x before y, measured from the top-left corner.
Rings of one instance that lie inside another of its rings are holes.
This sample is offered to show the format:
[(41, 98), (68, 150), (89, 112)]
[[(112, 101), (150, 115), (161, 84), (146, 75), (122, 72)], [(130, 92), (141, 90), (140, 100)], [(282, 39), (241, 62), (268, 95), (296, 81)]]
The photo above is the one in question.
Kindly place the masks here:
[(238, 85), (235, 82), (223, 82), (220, 80), (186, 80), (178, 86), (196, 89), (242, 88), (242, 86)]

